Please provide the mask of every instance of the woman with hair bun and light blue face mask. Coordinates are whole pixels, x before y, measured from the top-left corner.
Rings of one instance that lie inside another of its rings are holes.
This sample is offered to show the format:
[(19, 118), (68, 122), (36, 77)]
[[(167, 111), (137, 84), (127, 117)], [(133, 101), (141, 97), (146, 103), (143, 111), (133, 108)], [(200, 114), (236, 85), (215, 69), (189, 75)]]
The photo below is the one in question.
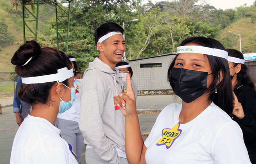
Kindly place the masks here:
[(68, 56), (54, 48), (41, 48), (32, 41), (12, 57), (22, 78), (17, 96), (32, 106), (12, 145), (11, 164), (77, 164), (72, 147), (54, 126), (58, 113), (75, 101), (74, 74)]

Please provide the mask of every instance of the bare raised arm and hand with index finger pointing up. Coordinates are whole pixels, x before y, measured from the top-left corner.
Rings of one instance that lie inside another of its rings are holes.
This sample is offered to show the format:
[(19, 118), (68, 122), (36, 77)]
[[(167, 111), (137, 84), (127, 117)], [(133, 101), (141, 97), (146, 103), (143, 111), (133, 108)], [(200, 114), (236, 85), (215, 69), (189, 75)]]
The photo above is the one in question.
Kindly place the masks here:
[(125, 152), (129, 164), (146, 164), (145, 153), (147, 147), (144, 145), (140, 133), (135, 94), (132, 90), (130, 76), (127, 75), (126, 78), (127, 93), (120, 93), (114, 99), (118, 106), (125, 102), (125, 109), (120, 106), (121, 112), (125, 116)]

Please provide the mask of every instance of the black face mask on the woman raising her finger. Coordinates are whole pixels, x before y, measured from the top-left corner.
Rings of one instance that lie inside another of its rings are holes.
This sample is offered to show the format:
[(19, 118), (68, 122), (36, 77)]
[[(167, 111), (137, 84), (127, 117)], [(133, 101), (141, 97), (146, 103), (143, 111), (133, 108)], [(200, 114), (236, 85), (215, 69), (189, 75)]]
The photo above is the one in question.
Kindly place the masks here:
[(173, 67), (169, 74), (169, 82), (172, 84), (174, 93), (184, 102), (189, 103), (205, 93), (207, 76), (207, 72)]

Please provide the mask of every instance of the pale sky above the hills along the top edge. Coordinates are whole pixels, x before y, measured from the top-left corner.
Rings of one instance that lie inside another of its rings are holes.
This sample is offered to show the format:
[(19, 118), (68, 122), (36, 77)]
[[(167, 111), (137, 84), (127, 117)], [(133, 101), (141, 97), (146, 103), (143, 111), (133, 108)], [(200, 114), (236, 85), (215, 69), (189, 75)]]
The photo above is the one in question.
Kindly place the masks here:
[[(148, 0), (142, 0), (143, 4), (147, 3)], [(151, 0), (152, 3), (156, 3), (159, 1), (165, 1), (165, 0)], [(206, 0), (206, 3), (214, 6), (217, 9), (228, 9), (228, 8), (233, 8), (235, 9), (236, 7), (240, 7), (241, 5), (244, 5), (245, 3), (247, 6), (250, 6), (253, 4), (255, 0)]]

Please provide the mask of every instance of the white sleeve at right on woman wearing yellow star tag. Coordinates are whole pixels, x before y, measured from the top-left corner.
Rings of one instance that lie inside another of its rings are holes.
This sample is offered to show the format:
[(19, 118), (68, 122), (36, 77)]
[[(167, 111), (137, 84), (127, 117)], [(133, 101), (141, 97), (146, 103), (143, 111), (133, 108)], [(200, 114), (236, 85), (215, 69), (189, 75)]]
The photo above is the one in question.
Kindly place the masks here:
[(211, 151), (215, 164), (251, 164), (242, 130), (235, 122), (220, 127)]

